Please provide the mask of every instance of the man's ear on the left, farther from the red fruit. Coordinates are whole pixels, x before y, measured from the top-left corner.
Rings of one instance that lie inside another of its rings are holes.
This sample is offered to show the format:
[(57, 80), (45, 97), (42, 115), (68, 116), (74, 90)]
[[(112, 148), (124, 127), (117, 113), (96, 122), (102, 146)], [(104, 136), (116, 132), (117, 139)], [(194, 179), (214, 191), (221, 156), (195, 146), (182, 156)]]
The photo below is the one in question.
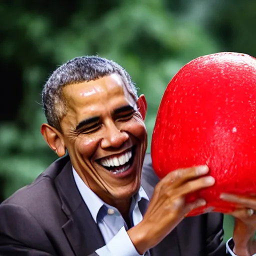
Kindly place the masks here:
[(41, 134), (49, 147), (57, 153), (59, 157), (65, 154), (65, 144), (61, 133), (47, 123), (41, 125)]

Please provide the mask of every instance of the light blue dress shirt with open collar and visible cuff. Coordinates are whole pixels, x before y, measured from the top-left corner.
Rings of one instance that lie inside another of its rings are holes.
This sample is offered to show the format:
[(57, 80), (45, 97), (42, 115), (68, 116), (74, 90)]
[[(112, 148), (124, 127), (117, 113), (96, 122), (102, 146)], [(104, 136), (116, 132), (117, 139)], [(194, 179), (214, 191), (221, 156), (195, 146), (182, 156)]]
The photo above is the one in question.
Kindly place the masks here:
[[(72, 171), (83, 201), (86, 203), (106, 243), (105, 246), (97, 249), (95, 252), (99, 256), (140, 256), (126, 232), (128, 228), (119, 211), (115, 207), (103, 202), (89, 189), (74, 168), (72, 168)], [(138, 202), (141, 200), (145, 200), (146, 203), (140, 204), (139, 208)], [(144, 189), (140, 187), (131, 201), (129, 215), (132, 226), (142, 220), (143, 217), (140, 211), (144, 212), (146, 210), (145, 206), (147, 206), (148, 202), (149, 199)], [(144, 205), (144, 208), (141, 208), (142, 205)], [(145, 254), (150, 255), (148, 251)]]

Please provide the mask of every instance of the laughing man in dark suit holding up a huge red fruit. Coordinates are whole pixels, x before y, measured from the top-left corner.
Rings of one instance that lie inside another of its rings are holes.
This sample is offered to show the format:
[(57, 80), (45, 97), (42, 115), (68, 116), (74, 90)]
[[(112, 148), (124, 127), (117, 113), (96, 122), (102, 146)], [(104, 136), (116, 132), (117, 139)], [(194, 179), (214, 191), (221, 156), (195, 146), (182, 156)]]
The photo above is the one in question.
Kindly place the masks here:
[[(0, 205), (0, 255), (226, 255), (221, 214), (184, 218), (205, 204), (185, 195), (214, 184), (207, 166), (157, 179), (145, 154), (145, 97), (125, 69), (74, 58), (51, 74), (42, 102), (41, 133), (60, 158)], [(235, 214), (248, 220), (244, 212)], [(237, 255), (250, 255), (250, 231), (237, 221)]]

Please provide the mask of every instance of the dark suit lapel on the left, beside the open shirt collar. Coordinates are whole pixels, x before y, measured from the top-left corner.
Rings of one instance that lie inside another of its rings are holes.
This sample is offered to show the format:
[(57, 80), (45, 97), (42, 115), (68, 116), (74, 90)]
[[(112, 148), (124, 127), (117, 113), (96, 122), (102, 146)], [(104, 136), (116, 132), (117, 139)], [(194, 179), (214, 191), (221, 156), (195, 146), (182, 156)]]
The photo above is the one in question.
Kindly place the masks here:
[(62, 210), (68, 217), (62, 229), (74, 254), (87, 255), (104, 246), (101, 232), (76, 187), (70, 161), (56, 177), (55, 184)]

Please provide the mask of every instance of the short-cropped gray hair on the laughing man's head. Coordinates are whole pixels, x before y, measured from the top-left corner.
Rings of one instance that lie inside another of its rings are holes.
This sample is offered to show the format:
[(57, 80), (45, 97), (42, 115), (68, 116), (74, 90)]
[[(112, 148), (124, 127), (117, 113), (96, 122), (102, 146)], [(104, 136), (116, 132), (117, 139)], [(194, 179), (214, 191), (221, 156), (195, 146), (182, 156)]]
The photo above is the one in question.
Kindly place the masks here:
[(60, 121), (67, 110), (67, 102), (62, 94), (65, 85), (96, 80), (112, 73), (122, 77), (127, 90), (137, 100), (137, 88), (130, 75), (112, 60), (98, 56), (81, 56), (59, 66), (50, 75), (42, 90), (42, 105), (48, 124), (61, 131)]

